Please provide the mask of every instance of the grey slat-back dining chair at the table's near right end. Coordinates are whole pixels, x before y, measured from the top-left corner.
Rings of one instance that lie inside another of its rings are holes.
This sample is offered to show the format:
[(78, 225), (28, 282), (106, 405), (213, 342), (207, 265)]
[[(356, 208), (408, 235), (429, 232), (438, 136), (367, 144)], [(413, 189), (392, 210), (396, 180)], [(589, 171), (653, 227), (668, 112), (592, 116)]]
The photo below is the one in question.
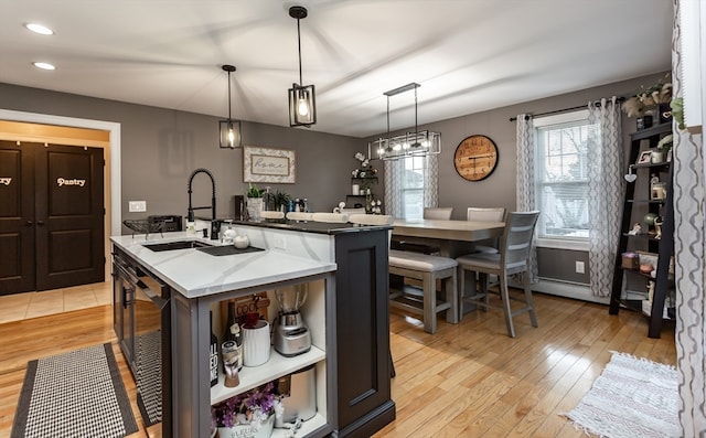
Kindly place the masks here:
[[(532, 300), (532, 289), (530, 288), (530, 253), (532, 249), (532, 237), (537, 224), (539, 212), (513, 212), (505, 220), (505, 228), (501, 238), (500, 252), (498, 254), (475, 253), (458, 257), (460, 284), (464, 285), (466, 271), (475, 277), (479, 276), (479, 284), (475, 292), (470, 296), (461, 293), (459, 298), (477, 305), (482, 309), (498, 309), (498, 306), (489, 303), (488, 276), (496, 275), (500, 279), (499, 295), (502, 300), (502, 310), (507, 325), (507, 334), (515, 338), (515, 328), (512, 318), (523, 313), (530, 313), (530, 322), (537, 327), (537, 316)], [(522, 275), (524, 288), (524, 300), (510, 296), (507, 290), (507, 277), (514, 274)], [(524, 307), (513, 309), (510, 301), (524, 301)]]

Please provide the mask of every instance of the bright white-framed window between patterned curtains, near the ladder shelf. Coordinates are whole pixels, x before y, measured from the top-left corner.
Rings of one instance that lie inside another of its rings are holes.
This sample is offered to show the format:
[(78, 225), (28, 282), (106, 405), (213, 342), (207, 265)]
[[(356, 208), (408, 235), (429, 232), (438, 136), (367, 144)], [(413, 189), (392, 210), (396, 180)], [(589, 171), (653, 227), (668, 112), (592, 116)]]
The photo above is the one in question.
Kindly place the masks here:
[(597, 220), (588, 205), (588, 145), (599, 128), (587, 118), (581, 110), (534, 121), (539, 239), (588, 242), (589, 223)]

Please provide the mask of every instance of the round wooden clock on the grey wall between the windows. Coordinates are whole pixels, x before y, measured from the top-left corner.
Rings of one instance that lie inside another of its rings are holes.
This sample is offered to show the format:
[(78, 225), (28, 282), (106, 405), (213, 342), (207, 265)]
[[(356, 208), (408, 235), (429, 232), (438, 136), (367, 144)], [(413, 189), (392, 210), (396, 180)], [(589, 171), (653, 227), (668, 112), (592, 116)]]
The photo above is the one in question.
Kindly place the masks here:
[(498, 147), (485, 136), (467, 137), (456, 147), (453, 167), (464, 180), (484, 180), (496, 165)]

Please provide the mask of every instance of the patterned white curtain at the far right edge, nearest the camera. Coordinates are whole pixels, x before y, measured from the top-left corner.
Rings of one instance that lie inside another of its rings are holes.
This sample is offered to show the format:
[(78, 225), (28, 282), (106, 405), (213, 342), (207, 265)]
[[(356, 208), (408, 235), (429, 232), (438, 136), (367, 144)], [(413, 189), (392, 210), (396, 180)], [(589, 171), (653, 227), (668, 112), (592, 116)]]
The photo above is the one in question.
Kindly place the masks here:
[[(682, 96), (680, 2), (674, 0), (672, 79)], [(704, 6), (702, 4), (702, 8)], [(703, 25), (703, 23), (702, 23)], [(706, 109), (702, 107), (702, 111)], [(703, 121), (703, 116), (702, 116)], [(676, 367), (682, 437), (706, 436), (706, 174), (703, 137), (680, 131), (673, 121), (674, 260), (676, 284)]]

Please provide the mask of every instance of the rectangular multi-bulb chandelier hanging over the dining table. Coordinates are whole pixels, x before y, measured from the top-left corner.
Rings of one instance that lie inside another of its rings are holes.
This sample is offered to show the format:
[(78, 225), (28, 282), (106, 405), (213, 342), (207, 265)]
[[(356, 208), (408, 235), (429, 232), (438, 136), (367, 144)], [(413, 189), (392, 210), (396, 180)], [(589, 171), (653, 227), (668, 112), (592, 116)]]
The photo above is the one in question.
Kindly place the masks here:
[[(430, 130), (420, 131), (417, 126), (417, 88), (420, 85), (409, 83), (402, 87), (391, 89), (383, 93), (387, 96), (387, 137), (381, 137), (368, 143), (368, 150), (377, 151), (377, 158), (381, 160), (398, 160), (405, 157), (426, 157), (441, 152), (441, 133)], [(415, 130), (399, 136), (391, 137), (389, 135), (389, 97), (400, 93), (415, 90)]]

